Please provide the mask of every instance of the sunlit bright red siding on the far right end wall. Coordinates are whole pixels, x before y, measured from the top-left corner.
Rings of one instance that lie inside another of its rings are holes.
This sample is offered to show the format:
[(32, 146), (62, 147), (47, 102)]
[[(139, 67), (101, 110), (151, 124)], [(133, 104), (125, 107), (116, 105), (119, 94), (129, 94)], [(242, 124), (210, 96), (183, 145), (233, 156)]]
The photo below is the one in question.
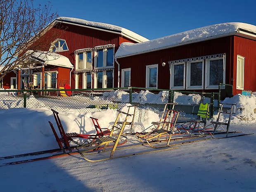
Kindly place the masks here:
[(256, 91), (256, 40), (234, 37), (234, 95), (242, 92), (236, 89), (237, 55), (244, 57), (244, 90)]

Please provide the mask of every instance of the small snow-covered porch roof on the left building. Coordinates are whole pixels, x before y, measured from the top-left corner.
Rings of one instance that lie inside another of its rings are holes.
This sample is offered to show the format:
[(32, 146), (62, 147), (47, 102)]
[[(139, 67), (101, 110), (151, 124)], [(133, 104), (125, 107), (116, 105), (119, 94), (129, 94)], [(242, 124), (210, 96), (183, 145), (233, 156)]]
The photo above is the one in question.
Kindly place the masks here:
[(63, 55), (46, 51), (33, 51), (26, 52), (30, 57), (43, 62), (46, 65), (62, 66), (67, 68), (74, 68), (69, 59)]

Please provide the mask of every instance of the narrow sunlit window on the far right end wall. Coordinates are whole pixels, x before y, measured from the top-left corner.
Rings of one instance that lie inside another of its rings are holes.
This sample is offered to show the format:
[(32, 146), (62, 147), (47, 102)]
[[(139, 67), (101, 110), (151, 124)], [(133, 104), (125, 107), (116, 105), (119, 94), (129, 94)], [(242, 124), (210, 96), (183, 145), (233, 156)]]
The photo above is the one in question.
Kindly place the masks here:
[(244, 90), (244, 57), (237, 55), (237, 89)]

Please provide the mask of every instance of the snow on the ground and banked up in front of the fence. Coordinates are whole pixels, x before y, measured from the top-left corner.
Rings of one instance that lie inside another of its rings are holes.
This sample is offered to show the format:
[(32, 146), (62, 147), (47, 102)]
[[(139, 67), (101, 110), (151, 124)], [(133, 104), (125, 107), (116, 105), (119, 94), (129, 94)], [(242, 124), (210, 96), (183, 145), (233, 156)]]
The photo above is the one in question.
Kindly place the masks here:
[[(223, 102), (237, 103), (240, 108), (232, 118), (230, 130), (255, 132), (254, 94), (251, 97), (235, 95)], [(48, 124), (51, 121), (56, 127), (50, 111), (50, 107), (54, 106), (51, 103), (49, 105), (32, 109), (0, 110), (1, 157), (58, 148)], [(128, 105), (122, 110), (127, 111)], [(116, 114), (111, 109), (83, 113), (74, 108), (59, 112), (67, 132), (90, 134), (94, 133), (90, 116), (98, 118), (101, 127), (110, 128)], [(135, 121), (134, 131), (140, 131), (158, 119), (158, 114), (148, 110), (145, 121)], [(133, 142), (136, 139), (130, 136), (128, 140)], [(97, 163), (87, 162), (79, 154), (74, 154), (26, 164), (0, 166), (1, 192), (255, 192), (255, 146), (256, 135), (248, 135), (205, 140), (164, 152)], [(141, 146), (134, 150), (145, 148), (147, 149), (146, 146)], [(2, 163), (4, 161), (0, 160), (0, 165)]]

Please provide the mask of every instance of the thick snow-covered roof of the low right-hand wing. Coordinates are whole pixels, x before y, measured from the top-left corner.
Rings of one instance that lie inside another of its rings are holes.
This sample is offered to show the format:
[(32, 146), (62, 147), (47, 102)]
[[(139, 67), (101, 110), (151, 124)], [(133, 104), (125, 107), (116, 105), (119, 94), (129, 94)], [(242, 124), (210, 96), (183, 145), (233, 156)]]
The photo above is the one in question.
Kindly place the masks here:
[(146, 52), (162, 50), (203, 40), (246, 33), (256, 37), (256, 26), (245, 23), (223, 23), (177, 33), (171, 36), (149, 40), (143, 43), (121, 43), (115, 57), (128, 57)]

